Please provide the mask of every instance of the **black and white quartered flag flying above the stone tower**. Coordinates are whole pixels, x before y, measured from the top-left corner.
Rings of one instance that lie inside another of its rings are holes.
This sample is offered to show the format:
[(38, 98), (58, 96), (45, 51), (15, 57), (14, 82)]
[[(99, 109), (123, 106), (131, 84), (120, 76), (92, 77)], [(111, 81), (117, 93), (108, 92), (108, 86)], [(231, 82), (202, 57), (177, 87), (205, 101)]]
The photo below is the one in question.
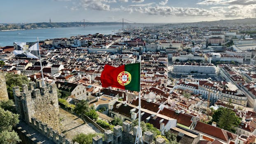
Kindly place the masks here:
[(14, 42), (13, 45), (13, 53), (16, 56), (37, 59), (40, 57), (38, 42)]

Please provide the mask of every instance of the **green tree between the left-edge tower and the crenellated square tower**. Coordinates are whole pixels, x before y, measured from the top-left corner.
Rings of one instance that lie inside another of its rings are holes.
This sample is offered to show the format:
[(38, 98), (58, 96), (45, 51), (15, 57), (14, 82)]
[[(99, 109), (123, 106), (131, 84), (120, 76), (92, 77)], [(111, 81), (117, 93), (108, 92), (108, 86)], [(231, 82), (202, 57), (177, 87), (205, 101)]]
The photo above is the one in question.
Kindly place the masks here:
[(22, 84), (28, 84), (29, 79), (25, 75), (22, 74), (14, 74), (14, 73), (7, 73), (5, 75), (7, 92), (9, 95), (9, 99), (13, 99), (13, 91), (12, 87), (19, 86), (21, 87)]

